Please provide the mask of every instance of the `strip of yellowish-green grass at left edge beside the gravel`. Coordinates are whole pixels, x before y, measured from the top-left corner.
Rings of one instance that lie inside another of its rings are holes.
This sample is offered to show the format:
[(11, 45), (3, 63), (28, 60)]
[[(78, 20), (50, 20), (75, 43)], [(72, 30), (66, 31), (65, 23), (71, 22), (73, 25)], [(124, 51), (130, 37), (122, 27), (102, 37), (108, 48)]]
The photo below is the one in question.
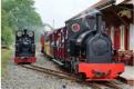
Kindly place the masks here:
[(1, 49), (1, 77), (8, 75), (8, 63), (11, 60), (12, 51), (9, 49)]

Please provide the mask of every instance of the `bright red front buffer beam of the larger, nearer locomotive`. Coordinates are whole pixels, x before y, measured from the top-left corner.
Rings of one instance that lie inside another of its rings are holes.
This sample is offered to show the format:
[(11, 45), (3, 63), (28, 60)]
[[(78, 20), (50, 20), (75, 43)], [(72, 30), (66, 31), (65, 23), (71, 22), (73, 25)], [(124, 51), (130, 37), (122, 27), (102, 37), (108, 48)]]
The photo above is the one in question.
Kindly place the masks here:
[(87, 80), (114, 80), (124, 71), (123, 63), (79, 63), (79, 72)]

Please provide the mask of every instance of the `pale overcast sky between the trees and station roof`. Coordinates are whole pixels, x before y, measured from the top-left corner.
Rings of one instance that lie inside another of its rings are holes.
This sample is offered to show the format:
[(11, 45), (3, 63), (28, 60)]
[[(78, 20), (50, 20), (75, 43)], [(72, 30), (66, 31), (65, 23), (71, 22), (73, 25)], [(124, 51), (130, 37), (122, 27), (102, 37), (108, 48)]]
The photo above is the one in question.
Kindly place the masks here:
[(54, 28), (64, 26), (64, 21), (85, 10), (100, 0), (34, 0), (37, 11), (44, 23)]

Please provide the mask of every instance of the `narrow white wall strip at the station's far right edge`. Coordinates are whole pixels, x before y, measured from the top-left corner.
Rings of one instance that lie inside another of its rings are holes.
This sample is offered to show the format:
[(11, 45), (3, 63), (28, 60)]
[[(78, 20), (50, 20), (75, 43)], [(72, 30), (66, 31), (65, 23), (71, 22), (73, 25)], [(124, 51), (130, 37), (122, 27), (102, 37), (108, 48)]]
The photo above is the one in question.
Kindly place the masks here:
[(130, 50), (134, 51), (134, 24), (130, 24)]

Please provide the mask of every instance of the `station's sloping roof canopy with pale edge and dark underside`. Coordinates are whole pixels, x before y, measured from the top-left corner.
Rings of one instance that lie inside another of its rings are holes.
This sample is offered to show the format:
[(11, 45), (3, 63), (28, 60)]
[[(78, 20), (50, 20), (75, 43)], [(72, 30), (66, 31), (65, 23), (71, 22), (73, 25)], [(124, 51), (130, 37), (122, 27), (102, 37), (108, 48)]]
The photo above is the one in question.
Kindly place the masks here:
[(79, 14), (72, 17), (70, 20), (89, 16), (92, 12), (101, 11), (103, 13), (103, 19), (106, 21), (106, 26), (128, 26), (133, 23), (133, 3), (127, 3), (131, 0), (122, 0), (121, 3), (116, 4), (115, 0), (101, 0), (100, 2), (91, 6), (86, 10), (80, 12)]

